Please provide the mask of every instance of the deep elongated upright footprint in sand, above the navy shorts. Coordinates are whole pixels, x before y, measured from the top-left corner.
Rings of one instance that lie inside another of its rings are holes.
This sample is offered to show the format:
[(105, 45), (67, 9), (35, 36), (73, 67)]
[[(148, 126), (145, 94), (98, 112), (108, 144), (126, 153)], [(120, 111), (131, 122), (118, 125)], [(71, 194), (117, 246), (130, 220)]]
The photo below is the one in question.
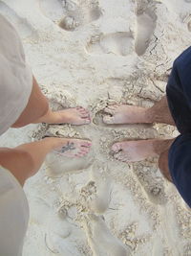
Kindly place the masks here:
[(156, 28), (157, 16), (154, 12), (147, 10), (138, 14), (135, 48), (138, 56), (145, 53), (149, 46), (151, 36)]

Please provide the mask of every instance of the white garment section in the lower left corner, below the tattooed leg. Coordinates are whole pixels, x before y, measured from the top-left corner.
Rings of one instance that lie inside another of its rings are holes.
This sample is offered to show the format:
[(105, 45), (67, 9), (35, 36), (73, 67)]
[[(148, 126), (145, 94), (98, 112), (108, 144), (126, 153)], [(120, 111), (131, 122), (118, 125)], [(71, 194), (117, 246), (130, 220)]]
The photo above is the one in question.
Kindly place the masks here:
[(0, 166), (0, 255), (21, 256), (29, 205), (17, 179)]

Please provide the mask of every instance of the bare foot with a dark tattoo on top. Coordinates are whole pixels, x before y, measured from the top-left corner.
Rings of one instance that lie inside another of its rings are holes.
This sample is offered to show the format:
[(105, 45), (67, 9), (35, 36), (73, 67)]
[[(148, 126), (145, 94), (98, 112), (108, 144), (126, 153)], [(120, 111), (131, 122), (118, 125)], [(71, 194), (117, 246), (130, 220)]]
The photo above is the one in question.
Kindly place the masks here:
[(55, 153), (66, 157), (83, 157), (90, 151), (92, 146), (92, 142), (89, 140), (54, 137), (45, 139), (50, 140)]

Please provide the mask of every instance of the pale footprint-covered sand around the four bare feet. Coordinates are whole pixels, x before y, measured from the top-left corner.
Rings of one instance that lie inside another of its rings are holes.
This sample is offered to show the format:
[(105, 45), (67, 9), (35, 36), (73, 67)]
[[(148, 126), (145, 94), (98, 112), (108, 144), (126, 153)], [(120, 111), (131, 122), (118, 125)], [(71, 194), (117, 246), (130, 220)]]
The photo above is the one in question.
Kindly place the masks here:
[(161, 124), (106, 126), (108, 104), (150, 106), (165, 94), (173, 60), (191, 44), (190, 0), (5, 0), (3, 13), (53, 109), (82, 105), (90, 126), (10, 129), (1, 146), (44, 135), (88, 138), (84, 158), (50, 153), (25, 185), (30, 223), (23, 256), (190, 256), (191, 212), (159, 173), (157, 158), (134, 164), (113, 142), (173, 138)]

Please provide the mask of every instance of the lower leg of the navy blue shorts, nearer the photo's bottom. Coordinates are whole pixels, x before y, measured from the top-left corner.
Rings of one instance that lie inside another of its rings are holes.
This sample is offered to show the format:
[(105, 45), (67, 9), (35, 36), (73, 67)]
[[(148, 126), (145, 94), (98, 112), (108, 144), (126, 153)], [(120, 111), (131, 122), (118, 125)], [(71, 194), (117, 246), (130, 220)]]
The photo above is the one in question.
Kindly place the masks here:
[(181, 197), (191, 207), (191, 134), (176, 138), (168, 154), (169, 170)]

